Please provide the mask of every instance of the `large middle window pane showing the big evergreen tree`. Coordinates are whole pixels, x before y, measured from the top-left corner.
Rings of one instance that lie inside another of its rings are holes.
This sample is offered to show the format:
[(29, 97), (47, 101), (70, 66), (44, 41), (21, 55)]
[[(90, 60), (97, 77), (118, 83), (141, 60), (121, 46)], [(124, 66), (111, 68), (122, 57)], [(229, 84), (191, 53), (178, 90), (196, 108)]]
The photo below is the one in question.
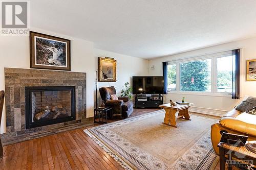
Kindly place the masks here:
[(180, 63), (181, 91), (210, 91), (211, 59)]

